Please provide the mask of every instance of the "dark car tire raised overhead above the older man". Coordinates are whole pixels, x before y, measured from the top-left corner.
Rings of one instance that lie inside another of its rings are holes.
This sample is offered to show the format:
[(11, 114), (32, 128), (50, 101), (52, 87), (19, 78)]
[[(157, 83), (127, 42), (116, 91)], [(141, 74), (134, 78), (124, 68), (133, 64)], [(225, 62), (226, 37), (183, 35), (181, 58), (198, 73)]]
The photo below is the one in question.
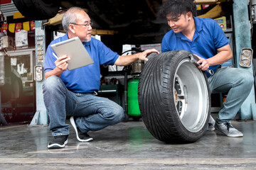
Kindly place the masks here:
[(60, 8), (60, 1), (51, 0), (13, 0), (23, 16), (31, 20), (53, 18)]

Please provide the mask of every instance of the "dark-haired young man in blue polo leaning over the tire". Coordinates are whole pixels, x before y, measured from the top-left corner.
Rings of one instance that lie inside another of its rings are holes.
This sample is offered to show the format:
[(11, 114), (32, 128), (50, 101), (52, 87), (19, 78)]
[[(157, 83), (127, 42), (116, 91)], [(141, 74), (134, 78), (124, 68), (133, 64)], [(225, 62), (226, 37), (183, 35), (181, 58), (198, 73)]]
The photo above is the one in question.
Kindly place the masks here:
[[(198, 69), (213, 70), (212, 76), (206, 72), (210, 91), (228, 92), (224, 107), (218, 113), (215, 129), (228, 137), (242, 137), (242, 132), (231, 125), (231, 120), (250, 94), (253, 76), (245, 69), (221, 68), (220, 64), (233, 57), (228, 39), (216, 21), (196, 18), (193, 16), (195, 11), (193, 0), (169, 0), (162, 4), (159, 16), (167, 18), (171, 30), (164, 35), (161, 50), (188, 50), (198, 57)], [(214, 121), (210, 119), (210, 122)]]

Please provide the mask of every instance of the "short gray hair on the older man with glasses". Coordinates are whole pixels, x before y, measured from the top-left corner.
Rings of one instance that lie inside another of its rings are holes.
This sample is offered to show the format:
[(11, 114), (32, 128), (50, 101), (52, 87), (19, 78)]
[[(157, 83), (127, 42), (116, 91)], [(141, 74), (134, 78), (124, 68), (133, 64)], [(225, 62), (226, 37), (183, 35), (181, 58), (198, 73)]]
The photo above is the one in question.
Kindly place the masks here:
[(63, 23), (63, 29), (68, 31), (68, 26), (70, 23), (76, 23), (76, 12), (78, 11), (84, 11), (82, 8), (79, 7), (71, 7), (68, 9), (68, 11), (65, 12), (62, 23)]

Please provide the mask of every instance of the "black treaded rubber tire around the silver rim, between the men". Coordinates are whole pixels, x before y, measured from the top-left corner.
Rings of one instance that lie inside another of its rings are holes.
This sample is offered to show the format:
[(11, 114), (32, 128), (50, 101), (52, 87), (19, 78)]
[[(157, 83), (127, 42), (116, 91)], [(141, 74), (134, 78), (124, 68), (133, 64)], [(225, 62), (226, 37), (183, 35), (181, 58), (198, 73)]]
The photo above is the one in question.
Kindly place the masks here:
[[(142, 120), (149, 132), (151, 132), (151, 135), (167, 143), (195, 142), (206, 132), (208, 126), (208, 118), (210, 116), (210, 89), (204, 72), (201, 72), (201, 74), (203, 74), (202, 81), (206, 81), (209, 100), (206, 122), (201, 130), (191, 132), (184, 127), (174, 102), (174, 79), (176, 69), (182, 60), (189, 60), (190, 57), (188, 55), (191, 54), (191, 52), (185, 50), (176, 50), (151, 57), (144, 65), (144, 69), (139, 78), (138, 94)], [(193, 65), (193, 67), (196, 66)], [(155, 79), (157, 76), (160, 78)], [(161, 82), (159, 83), (159, 81)], [(162, 88), (161, 86), (163, 86), (164, 83), (168, 84), (168, 86)], [(148, 101), (154, 101), (155, 103)], [(152, 105), (156, 108), (152, 108)], [(154, 111), (151, 111), (152, 109), (154, 109)], [(158, 128), (159, 126), (161, 126), (161, 128)]]

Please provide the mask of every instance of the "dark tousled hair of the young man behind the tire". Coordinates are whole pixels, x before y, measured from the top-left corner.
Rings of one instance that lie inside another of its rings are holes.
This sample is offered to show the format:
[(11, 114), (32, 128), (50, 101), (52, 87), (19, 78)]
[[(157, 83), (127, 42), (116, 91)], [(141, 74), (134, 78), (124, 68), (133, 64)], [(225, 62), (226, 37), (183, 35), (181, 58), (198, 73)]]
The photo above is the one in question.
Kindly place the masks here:
[(196, 4), (193, 0), (167, 0), (161, 5), (158, 16), (165, 18), (167, 14), (171, 13), (173, 18), (178, 18), (181, 14), (191, 12), (196, 16)]

